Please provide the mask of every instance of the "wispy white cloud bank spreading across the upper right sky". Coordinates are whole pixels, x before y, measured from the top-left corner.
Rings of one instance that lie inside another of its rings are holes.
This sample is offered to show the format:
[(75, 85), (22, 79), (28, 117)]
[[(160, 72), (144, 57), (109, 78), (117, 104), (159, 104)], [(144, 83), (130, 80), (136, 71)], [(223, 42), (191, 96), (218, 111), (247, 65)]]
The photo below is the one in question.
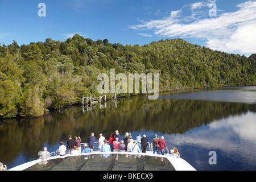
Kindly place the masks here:
[[(243, 2), (237, 7), (237, 11), (210, 17), (208, 3), (196, 2), (171, 11), (168, 17), (129, 27), (154, 30), (155, 35), (166, 37), (205, 39), (209, 48), (250, 55), (256, 52), (256, 1)], [(190, 15), (183, 15), (188, 11)]]

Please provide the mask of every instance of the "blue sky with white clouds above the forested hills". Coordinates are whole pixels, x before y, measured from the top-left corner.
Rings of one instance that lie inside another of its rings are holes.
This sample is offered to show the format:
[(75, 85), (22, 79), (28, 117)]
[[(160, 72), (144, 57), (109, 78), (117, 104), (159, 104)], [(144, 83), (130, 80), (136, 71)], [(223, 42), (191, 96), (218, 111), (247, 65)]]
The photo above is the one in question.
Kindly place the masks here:
[[(46, 17), (38, 16), (39, 3)], [(216, 16), (210, 16), (216, 5)], [(0, 43), (65, 41), (80, 34), (110, 43), (181, 38), (228, 53), (256, 53), (256, 1), (0, 0)]]

